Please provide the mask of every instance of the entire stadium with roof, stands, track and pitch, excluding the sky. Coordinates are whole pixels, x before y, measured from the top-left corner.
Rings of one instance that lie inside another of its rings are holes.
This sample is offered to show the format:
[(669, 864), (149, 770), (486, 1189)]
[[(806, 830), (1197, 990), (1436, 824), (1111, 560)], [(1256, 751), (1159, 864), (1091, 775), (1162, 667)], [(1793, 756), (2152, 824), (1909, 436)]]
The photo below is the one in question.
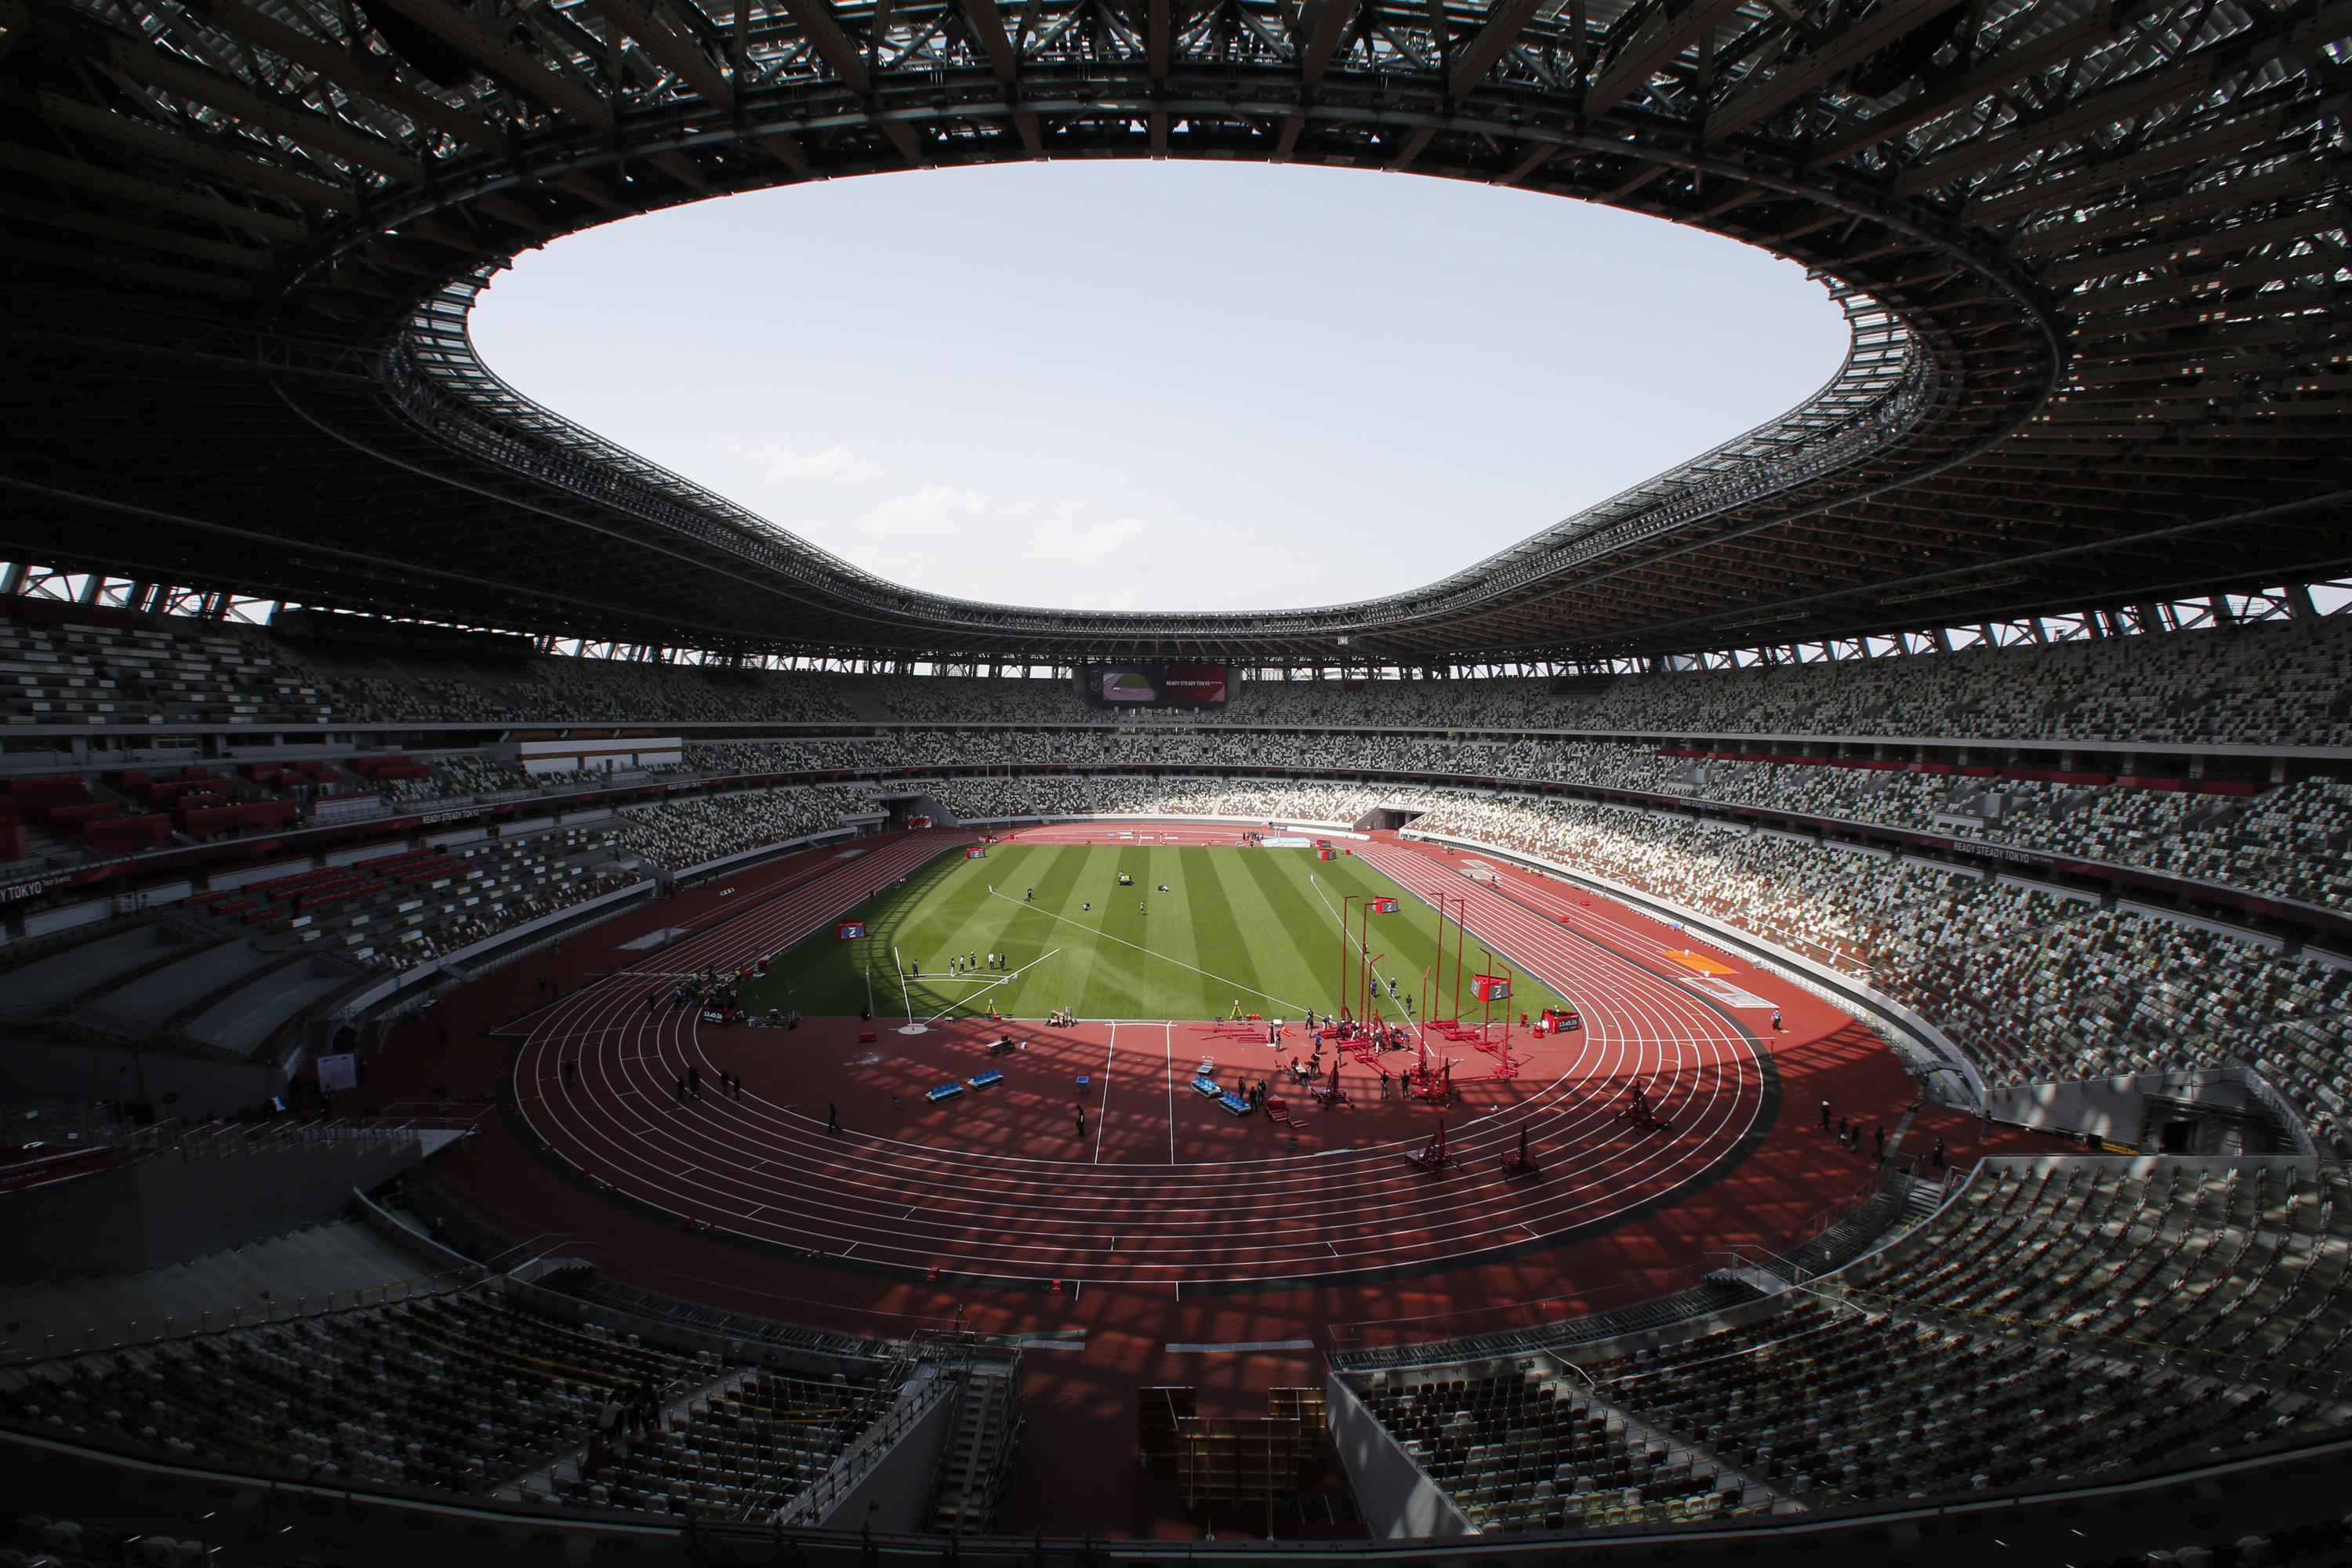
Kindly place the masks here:
[[(2347, 71), (0, 0), (0, 1563), (2352, 1561)], [(1063, 160), (1573, 197), (1844, 355), (1406, 592), (1143, 611), (475, 348), (567, 235)]]

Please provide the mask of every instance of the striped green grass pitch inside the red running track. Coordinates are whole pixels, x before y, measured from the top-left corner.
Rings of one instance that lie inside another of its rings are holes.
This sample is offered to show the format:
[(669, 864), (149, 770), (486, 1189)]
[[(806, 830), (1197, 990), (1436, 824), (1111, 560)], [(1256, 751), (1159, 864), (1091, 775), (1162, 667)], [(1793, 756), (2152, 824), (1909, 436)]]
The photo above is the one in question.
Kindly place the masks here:
[[(1120, 872), (1134, 886), (1120, 886)], [(1343, 903), (1350, 893), (1355, 905)], [(1395, 914), (1371, 917), (1367, 938), (1374, 973), (1397, 987), (1395, 999), (1376, 1001), (1378, 1013), (1395, 1020), (1411, 1004), (1414, 1018), (1454, 1016), (1461, 933), (1446, 926), (1446, 973), (1432, 999), (1423, 971), (1437, 961), (1437, 910), (1362, 860), (1143, 844), (995, 844), (981, 860), (943, 856), (844, 914), (866, 922), (866, 938), (835, 940), (828, 924), (748, 985), (746, 1004), (830, 1018), (854, 1016), (870, 994), (877, 1018), (917, 1020), (985, 1018), (990, 1006), (1004, 1018), (1056, 1009), (1080, 1018), (1225, 1018), (1235, 1001), (1268, 1018), (1322, 1016), (1341, 1006), (1341, 907), (1362, 910), (1367, 898), (1397, 900)], [(1352, 931), (1362, 914), (1348, 924)], [(950, 973), (950, 959), (971, 952), (983, 966)], [(990, 952), (1009, 966), (985, 969)], [(1477, 1018), (1477, 931), (1463, 952), (1461, 1016)], [(1559, 1006), (1515, 969), (1512, 1011)]]

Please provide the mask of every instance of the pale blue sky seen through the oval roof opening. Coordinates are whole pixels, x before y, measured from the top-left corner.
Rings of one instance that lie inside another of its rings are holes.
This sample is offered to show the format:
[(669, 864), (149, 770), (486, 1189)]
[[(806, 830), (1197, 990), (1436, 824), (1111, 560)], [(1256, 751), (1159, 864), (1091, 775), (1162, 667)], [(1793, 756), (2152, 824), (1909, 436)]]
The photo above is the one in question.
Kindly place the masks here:
[(1409, 174), (1054, 162), (739, 195), (520, 256), (508, 383), (913, 588), (1056, 609), (1404, 592), (1802, 402), (1766, 252)]

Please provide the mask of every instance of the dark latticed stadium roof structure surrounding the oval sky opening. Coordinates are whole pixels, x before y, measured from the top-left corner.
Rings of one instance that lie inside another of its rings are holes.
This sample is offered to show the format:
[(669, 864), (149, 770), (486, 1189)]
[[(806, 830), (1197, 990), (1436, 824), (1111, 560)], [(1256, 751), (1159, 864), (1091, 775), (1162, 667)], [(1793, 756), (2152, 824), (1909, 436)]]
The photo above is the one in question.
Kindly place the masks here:
[[(0, 557), (1054, 661), (1583, 658), (2324, 578), (2352, 562), (2347, 38), (2343, 0), (0, 0)], [(1160, 155), (1700, 226), (1825, 277), (1851, 353), (1416, 592), (1080, 614), (858, 571), (466, 336), (515, 252), (635, 212)]]

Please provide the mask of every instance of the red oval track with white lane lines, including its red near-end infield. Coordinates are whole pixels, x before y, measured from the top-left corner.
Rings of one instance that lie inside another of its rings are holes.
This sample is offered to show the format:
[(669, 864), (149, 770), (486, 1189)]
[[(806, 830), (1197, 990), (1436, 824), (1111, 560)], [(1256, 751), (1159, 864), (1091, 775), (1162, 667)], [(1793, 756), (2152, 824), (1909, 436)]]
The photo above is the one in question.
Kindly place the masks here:
[[(884, 1020), (875, 1041), (858, 1041), (847, 1020), (786, 1034), (668, 1009), (666, 976), (774, 954), (967, 837), (913, 835), (844, 860), (534, 1013), (510, 1084), (532, 1138), (600, 1190), (750, 1246), (974, 1281), (1183, 1293), (1461, 1265), (1559, 1241), (1686, 1190), (1762, 1131), (1769, 1095), (1755, 1041), (1670, 964), (1392, 844), (1357, 853), (1416, 896), (1468, 896), (1472, 940), (1576, 997), (1585, 1020), (1543, 1044), (1519, 1034), (1508, 1079), (1479, 1077), (1491, 1056), (1444, 1046), (1465, 1091), (1446, 1112), (1383, 1103), (1374, 1070), (1343, 1060), (1352, 1105), (1315, 1110), (1301, 1093), (1294, 1133), (1265, 1117), (1230, 1119), (1190, 1091), (1192, 1063), (1218, 1056), (1270, 1072), (1275, 1058), (1218, 1025), (1023, 1030), (1030, 1051), (985, 1058), (995, 1030), (974, 1025), (903, 1037)], [(647, 1011), (654, 990), (661, 1001)], [(988, 1065), (1004, 1065), (1004, 1088), (953, 1107), (922, 1103), (929, 1084)], [(680, 1103), (689, 1067), (703, 1074), (703, 1098)], [(717, 1091), (722, 1067), (743, 1074), (741, 1098)], [(1618, 1119), (1637, 1077), (1672, 1133)], [(908, 1105), (889, 1105), (894, 1093)], [(842, 1105), (847, 1131), (828, 1131), (828, 1103)], [(1425, 1175), (1404, 1154), (1439, 1114), (1461, 1166)], [(1498, 1168), (1522, 1133), (1543, 1166), (1536, 1180)]]

